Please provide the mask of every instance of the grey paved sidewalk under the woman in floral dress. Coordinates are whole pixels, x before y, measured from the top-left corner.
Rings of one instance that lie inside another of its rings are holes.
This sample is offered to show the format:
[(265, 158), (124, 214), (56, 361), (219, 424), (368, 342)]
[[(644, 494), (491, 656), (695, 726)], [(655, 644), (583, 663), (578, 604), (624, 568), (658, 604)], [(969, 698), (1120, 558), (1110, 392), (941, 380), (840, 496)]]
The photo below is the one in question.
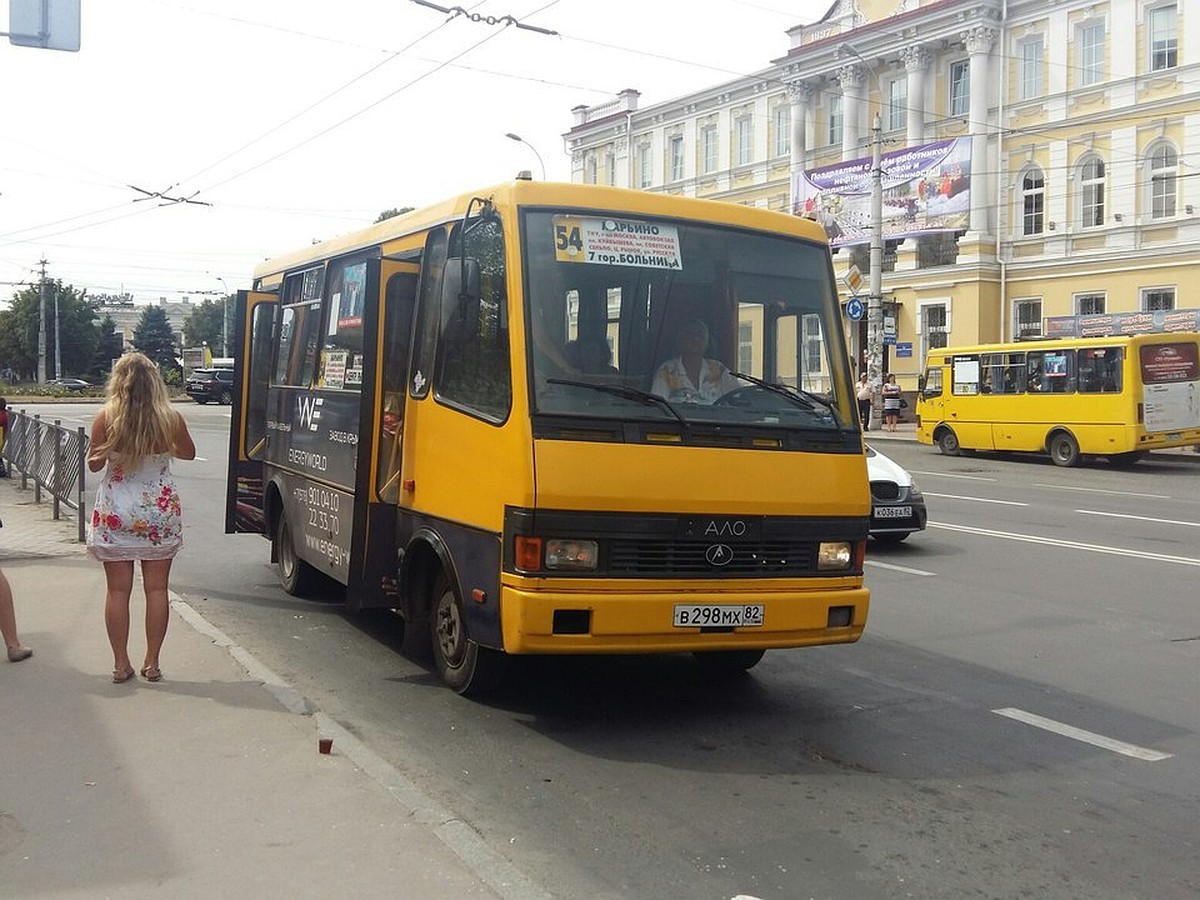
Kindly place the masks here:
[(113, 684), (103, 569), (18, 485), (0, 565), (34, 656), (0, 660), (0, 898), (546, 896), (178, 598), (164, 680)]

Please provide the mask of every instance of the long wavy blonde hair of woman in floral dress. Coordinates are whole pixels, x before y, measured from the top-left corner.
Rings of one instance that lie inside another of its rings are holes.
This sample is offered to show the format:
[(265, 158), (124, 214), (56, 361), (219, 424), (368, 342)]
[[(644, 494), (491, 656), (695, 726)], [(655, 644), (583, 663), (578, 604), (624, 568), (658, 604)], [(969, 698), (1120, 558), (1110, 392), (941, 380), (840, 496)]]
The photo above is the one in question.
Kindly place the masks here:
[(146, 456), (175, 449), (178, 413), (170, 406), (158, 367), (142, 353), (116, 360), (104, 400), (106, 450), (137, 468)]

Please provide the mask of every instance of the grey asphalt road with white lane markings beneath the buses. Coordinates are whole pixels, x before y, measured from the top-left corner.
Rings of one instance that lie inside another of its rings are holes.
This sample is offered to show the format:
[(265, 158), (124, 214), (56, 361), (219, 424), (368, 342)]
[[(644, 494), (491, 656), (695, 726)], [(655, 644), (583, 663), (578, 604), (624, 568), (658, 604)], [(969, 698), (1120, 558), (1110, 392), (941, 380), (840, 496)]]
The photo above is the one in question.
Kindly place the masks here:
[(264, 540), (222, 534), (229, 412), (185, 412), (173, 589), (557, 896), (1200, 893), (1190, 461), (881, 443), (930, 526), (870, 547), (858, 644), (724, 685), (686, 656), (521, 660), (485, 704), (394, 617), (289, 598)]

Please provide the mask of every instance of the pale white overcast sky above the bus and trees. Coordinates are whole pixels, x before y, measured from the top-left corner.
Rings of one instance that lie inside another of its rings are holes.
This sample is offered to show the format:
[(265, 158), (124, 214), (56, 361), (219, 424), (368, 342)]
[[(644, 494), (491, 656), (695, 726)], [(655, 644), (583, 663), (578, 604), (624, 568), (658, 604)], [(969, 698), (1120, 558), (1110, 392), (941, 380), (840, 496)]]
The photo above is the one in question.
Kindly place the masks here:
[(386, 209), (568, 181), (572, 107), (761, 71), (832, 0), (460, 2), (82, 0), (78, 53), (0, 38), (0, 304), (42, 259), (197, 302)]

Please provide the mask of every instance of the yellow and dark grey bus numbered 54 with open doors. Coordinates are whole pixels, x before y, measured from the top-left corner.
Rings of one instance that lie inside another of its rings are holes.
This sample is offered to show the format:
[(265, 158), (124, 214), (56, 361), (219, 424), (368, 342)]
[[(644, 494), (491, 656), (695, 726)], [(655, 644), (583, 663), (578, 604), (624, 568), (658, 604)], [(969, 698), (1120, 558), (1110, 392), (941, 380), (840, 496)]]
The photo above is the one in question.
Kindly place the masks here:
[(516, 180), (269, 260), (238, 300), (226, 530), (269, 538), (290, 593), (427, 626), (458, 692), (509, 654), (737, 672), (862, 635), (818, 226)]

